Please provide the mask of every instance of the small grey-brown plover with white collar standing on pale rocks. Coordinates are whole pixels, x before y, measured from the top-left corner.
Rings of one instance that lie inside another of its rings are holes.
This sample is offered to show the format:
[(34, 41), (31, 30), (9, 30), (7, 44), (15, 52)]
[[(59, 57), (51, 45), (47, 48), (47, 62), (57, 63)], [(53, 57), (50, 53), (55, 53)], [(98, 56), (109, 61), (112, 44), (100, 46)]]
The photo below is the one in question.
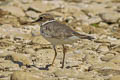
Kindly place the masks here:
[[(36, 22), (40, 24), (40, 34), (53, 45), (55, 56), (51, 66), (54, 64), (55, 58), (57, 56), (56, 45), (63, 46), (63, 61), (61, 67), (63, 68), (66, 54), (66, 48), (64, 44), (72, 44), (79, 39), (94, 39), (94, 37), (89, 36), (88, 34), (75, 32), (66, 24), (62, 24), (59, 21), (56, 21), (51, 14), (41, 14), (39, 18), (32, 23)], [(33, 36), (35, 35), (33, 34)]]

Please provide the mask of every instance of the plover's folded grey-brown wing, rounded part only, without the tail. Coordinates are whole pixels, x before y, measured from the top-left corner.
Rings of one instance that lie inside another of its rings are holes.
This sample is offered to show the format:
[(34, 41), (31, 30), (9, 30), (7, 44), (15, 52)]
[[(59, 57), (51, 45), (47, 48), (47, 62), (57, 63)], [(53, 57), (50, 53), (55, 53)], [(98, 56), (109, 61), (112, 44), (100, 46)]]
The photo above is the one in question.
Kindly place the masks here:
[(73, 30), (70, 27), (57, 21), (45, 24), (42, 29), (46, 35), (57, 39), (64, 39), (73, 35)]

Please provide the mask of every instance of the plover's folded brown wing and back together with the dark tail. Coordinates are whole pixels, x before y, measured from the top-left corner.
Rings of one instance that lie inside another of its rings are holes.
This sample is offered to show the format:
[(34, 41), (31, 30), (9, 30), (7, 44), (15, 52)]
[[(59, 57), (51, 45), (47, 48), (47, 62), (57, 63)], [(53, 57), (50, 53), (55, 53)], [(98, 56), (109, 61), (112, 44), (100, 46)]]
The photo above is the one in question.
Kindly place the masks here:
[(57, 21), (47, 23), (43, 28), (49, 31), (46, 31), (45, 34), (51, 36), (52, 38), (66, 39), (72, 36), (78, 36), (81, 39), (93, 39), (93, 37), (86, 34), (79, 34), (72, 30), (69, 26), (61, 24)]

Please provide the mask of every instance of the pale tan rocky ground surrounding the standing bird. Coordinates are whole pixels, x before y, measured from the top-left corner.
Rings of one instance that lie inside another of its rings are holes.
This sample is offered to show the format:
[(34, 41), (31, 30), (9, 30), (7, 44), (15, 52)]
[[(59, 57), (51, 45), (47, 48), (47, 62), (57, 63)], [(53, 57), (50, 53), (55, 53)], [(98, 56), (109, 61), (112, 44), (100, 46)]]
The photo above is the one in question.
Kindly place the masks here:
[[(96, 37), (52, 45), (31, 24), (42, 13)], [(0, 0), (0, 80), (120, 80), (120, 0)]]

